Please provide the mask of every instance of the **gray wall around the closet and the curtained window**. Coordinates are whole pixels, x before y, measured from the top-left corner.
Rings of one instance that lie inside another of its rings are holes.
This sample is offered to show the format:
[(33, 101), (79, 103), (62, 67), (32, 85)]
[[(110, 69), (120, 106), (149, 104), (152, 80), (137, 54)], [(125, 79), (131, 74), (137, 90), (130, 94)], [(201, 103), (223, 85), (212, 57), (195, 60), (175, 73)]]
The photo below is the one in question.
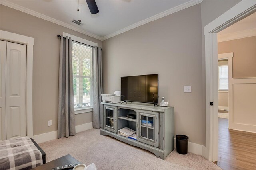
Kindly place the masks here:
[[(58, 69), (60, 39), (66, 32), (89, 41), (102, 41), (66, 27), (0, 5), (0, 29), (35, 38), (33, 58), (33, 131), (34, 135), (57, 130)], [(92, 122), (92, 112), (75, 116), (76, 125)], [(47, 121), (52, 120), (52, 126)]]

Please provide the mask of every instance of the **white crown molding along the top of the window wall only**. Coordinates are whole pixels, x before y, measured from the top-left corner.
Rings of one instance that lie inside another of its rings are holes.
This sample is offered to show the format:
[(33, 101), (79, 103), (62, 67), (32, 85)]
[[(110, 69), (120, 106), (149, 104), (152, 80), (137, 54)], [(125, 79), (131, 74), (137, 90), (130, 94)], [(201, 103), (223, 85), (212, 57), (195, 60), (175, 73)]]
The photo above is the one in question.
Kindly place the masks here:
[(93, 34), (93, 33), (90, 33), (90, 32), (88, 32), (88, 31), (85, 31), (84, 29), (77, 28), (77, 27), (75, 27), (75, 26), (73, 26), (73, 25), (70, 25), (70, 24), (68, 24), (68, 23), (64, 23), (64, 22), (62, 22), (62, 21), (56, 20), (56, 19), (54, 19), (54, 18), (52, 18), (52, 17), (46, 16), (46, 15), (41, 14), (41, 13), (39, 13), (39, 12), (30, 10), (30, 9), (25, 8), (25, 7), (23, 7), (23, 6), (14, 4), (14, 3), (10, 2), (10, 1), (7, 1), (7, 0), (0, 0), (0, 4), (2, 4), (2, 5), (4, 5), (4, 6), (8, 6), (8, 7), (10, 7), (10, 8), (13, 8), (13, 9), (15, 9), (15, 10), (19, 10), (19, 11), (21, 11), (21, 12), (25, 12), (25, 13), (30, 14), (30, 15), (32, 15), (32, 16), (36, 16), (36, 17), (38, 17), (38, 18), (42, 18), (42, 19), (44, 19), (44, 20), (46, 20), (46, 21), (50, 21), (50, 22), (52, 22), (52, 23), (56, 23), (56, 24), (58, 24), (58, 25), (61, 25), (61, 26), (63, 26), (63, 27), (66, 27), (66, 28), (68, 28), (68, 29), (72, 29), (72, 30), (74, 30), (74, 31), (77, 31), (77, 32), (79, 32), (79, 33), (88, 35), (88, 36), (90, 36), (90, 37), (93, 37), (93, 38), (96, 38), (96, 39), (102, 41), (102, 37), (100, 37), (100, 36), (98, 36), (98, 35), (95, 35), (95, 34)]

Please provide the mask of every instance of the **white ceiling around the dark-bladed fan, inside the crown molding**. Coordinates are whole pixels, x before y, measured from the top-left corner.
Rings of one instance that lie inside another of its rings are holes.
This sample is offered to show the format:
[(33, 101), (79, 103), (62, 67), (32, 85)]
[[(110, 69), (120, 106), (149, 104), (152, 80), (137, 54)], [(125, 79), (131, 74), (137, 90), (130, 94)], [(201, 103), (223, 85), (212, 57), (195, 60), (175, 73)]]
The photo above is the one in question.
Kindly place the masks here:
[(86, 1), (81, 0), (81, 20), (84, 24), (82, 26), (71, 22), (79, 19), (78, 0), (8, 0), (7, 3), (9, 6), (11, 3), (15, 4), (16, 9), (20, 6), (24, 9), (28, 8), (103, 38), (166, 10), (173, 8), (181, 10), (186, 4), (200, 2), (200, 0), (96, 0), (100, 12), (90, 14)]

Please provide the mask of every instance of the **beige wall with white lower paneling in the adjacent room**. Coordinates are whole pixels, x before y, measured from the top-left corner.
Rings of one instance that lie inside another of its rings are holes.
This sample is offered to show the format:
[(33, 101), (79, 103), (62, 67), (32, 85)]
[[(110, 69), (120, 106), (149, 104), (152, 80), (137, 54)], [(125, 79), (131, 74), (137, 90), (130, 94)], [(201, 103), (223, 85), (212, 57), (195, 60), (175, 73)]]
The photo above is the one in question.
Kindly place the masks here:
[(228, 75), (232, 87), (230, 128), (256, 133), (256, 36), (218, 43), (218, 54), (230, 52), (233, 53), (233, 78)]

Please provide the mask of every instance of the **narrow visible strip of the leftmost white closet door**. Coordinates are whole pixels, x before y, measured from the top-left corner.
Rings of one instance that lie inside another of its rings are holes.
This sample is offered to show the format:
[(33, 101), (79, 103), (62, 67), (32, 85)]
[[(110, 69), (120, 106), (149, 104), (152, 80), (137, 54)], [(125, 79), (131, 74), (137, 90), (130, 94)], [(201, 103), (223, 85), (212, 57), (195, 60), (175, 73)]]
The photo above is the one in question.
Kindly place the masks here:
[(6, 74), (6, 41), (0, 41), (0, 140), (6, 139), (5, 110), (5, 74)]

